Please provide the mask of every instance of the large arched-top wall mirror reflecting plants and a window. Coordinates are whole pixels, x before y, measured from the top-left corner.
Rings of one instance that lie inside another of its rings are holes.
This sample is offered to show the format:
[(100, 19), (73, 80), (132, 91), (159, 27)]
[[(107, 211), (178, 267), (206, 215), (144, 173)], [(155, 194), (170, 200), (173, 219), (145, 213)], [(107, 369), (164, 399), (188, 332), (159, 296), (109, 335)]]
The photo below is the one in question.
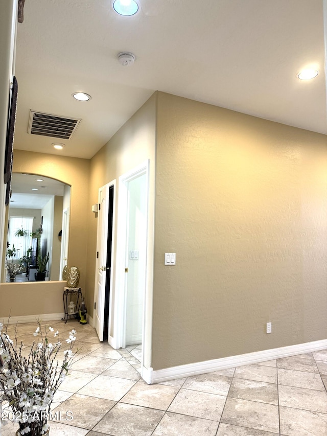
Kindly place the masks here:
[[(62, 280), (67, 264), (71, 187), (49, 177), (14, 173), (11, 189), (1, 281)], [(45, 274), (39, 276), (35, 273), (42, 269), (42, 262)]]

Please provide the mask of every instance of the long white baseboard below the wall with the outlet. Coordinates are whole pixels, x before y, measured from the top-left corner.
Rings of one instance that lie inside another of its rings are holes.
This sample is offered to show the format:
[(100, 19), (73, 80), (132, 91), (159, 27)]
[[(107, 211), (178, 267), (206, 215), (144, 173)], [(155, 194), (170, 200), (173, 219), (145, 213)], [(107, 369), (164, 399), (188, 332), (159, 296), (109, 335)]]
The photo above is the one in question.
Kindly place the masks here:
[(206, 360), (203, 362), (189, 363), (186, 365), (172, 366), (164, 370), (153, 371), (152, 368), (142, 369), (142, 378), (148, 383), (173, 380), (175, 378), (190, 377), (197, 374), (205, 374), (213, 371), (235, 368), (235, 366), (249, 365), (251, 363), (264, 362), (266, 360), (280, 359), (296, 354), (310, 353), (312, 351), (327, 348), (327, 339), (314, 342), (300, 343), (289, 347), (273, 348), (270, 350), (254, 353), (240, 354), (238, 356), (224, 357), (222, 359)]

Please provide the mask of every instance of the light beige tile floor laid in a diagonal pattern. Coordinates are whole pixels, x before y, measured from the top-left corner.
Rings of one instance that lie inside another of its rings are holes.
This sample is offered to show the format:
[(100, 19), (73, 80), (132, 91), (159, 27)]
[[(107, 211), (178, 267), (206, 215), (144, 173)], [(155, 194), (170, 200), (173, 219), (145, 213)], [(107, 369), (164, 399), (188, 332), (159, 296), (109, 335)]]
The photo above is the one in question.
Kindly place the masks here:
[[(80, 348), (53, 403), (52, 436), (327, 435), (327, 350), (147, 385), (140, 347), (113, 350), (76, 320), (49, 324), (62, 336), (75, 328)], [(35, 327), (18, 325), (19, 339), (32, 342)]]

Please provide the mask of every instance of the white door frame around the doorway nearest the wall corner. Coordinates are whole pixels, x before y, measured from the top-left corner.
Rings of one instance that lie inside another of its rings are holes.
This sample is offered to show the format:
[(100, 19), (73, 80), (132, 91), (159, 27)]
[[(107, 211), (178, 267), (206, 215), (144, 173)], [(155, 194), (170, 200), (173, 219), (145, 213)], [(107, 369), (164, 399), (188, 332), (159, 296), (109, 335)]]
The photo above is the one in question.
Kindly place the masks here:
[[(114, 340), (112, 345), (114, 348), (119, 349), (124, 346), (125, 341), (125, 329), (126, 329), (126, 286), (125, 286), (125, 262), (126, 262), (126, 238), (127, 238), (127, 208), (128, 208), (128, 182), (146, 174), (146, 260), (145, 260), (145, 292), (143, 300), (143, 320), (142, 320), (142, 359), (141, 366), (144, 367), (145, 364), (145, 350), (151, 347), (148, 343), (147, 338), (151, 337), (152, 331), (147, 331), (147, 329), (152, 328), (152, 323), (149, 323), (147, 319), (147, 314), (149, 313), (149, 299), (147, 295), (149, 292), (152, 294), (152, 288), (149, 289), (149, 281), (152, 282), (152, 270), (148, 268), (148, 259), (153, 256), (153, 248), (151, 253), (149, 251), (149, 170), (150, 161), (146, 160), (141, 165), (133, 168), (127, 173), (119, 177), (119, 188), (118, 188), (118, 226), (117, 226), (117, 251), (116, 251), (116, 265), (115, 265), (115, 298), (114, 298)], [(152, 227), (152, 226), (151, 226)], [(151, 238), (152, 240), (152, 238)], [(149, 280), (150, 279), (150, 280)], [(152, 300), (151, 300), (152, 301)], [(152, 310), (152, 307), (151, 309)], [(148, 322), (147, 322), (148, 321)], [(148, 327), (147, 327), (148, 326)], [(151, 326), (151, 327), (150, 327)]]

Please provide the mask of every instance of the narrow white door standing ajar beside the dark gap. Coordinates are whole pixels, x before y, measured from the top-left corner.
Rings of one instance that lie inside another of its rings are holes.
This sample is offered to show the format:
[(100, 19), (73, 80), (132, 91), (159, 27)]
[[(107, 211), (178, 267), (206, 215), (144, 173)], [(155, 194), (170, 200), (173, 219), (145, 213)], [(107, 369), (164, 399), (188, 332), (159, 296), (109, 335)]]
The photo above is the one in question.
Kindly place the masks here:
[(100, 340), (103, 340), (103, 325), (104, 325), (104, 310), (105, 310), (107, 241), (108, 241), (108, 199), (109, 199), (109, 184), (99, 189), (94, 322)]

